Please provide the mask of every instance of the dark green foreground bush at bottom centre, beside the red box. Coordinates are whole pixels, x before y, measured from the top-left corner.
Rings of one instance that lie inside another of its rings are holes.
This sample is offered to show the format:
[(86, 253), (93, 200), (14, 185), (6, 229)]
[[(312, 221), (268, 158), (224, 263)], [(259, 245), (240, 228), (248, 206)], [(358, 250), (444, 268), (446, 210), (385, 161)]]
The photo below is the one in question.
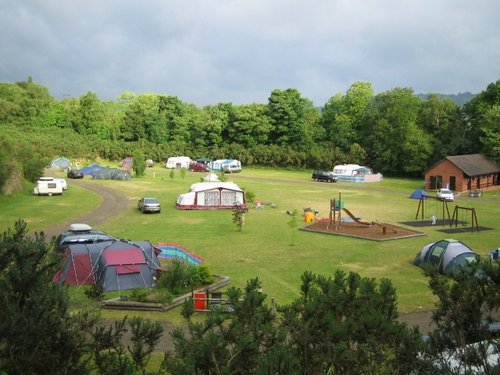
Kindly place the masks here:
[(222, 306), (201, 322), (193, 319), (193, 302), (184, 305), (189, 332), (173, 333), (175, 353), (167, 353), (166, 370), (172, 375), (297, 374), (297, 361), (275, 326), (273, 309), (264, 304), (260, 281), (250, 280), (244, 292), (230, 288), (226, 295), (231, 313)]

